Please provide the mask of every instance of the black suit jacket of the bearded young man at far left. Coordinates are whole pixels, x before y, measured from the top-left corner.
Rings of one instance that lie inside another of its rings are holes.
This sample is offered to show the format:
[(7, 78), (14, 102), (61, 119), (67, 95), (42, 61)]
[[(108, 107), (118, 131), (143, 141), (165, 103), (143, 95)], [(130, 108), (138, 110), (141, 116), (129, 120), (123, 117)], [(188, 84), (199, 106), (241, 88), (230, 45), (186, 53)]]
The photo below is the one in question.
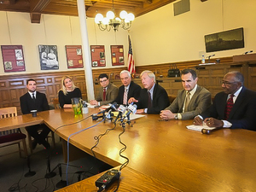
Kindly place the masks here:
[(20, 108), (23, 114), (27, 114), (31, 113), (31, 110), (38, 112), (49, 110), (49, 104), (44, 93), (37, 91), (36, 102), (33, 102), (32, 97), (26, 92), (25, 95), (20, 96)]

